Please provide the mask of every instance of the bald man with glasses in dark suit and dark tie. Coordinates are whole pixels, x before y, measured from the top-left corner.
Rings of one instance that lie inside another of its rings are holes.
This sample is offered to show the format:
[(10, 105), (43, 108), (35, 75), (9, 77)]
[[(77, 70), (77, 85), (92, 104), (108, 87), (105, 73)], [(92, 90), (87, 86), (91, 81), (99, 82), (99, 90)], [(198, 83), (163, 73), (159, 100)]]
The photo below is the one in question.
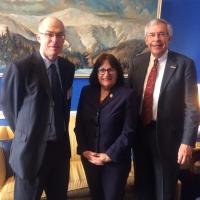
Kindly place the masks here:
[(15, 200), (67, 199), (68, 123), (74, 65), (59, 57), (65, 30), (55, 17), (39, 23), (40, 50), (12, 63), (5, 74), (2, 106), (14, 131), (10, 165)]

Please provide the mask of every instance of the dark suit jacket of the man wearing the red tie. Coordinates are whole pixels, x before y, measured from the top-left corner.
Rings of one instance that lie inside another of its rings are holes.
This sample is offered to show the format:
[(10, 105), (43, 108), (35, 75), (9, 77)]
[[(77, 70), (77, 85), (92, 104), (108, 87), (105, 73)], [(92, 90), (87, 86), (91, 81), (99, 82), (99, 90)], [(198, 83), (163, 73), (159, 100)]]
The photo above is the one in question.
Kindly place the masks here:
[[(130, 66), (128, 83), (136, 91), (138, 102), (141, 102), (149, 61), (150, 53), (141, 54)], [(194, 62), (169, 51), (157, 111), (157, 146), (163, 159), (176, 162), (181, 143), (194, 145), (199, 122), (197, 95)], [(143, 137), (140, 134), (141, 131), (137, 136)]]

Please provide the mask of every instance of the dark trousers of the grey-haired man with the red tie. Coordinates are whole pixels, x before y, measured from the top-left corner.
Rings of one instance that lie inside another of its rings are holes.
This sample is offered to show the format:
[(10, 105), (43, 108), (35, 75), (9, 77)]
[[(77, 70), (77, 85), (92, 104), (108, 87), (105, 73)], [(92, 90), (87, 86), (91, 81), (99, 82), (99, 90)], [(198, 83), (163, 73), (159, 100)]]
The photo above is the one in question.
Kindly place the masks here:
[(134, 147), (135, 190), (138, 199), (174, 200), (178, 164), (160, 156), (156, 122), (144, 128), (141, 135), (142, 138), (138, 139)]

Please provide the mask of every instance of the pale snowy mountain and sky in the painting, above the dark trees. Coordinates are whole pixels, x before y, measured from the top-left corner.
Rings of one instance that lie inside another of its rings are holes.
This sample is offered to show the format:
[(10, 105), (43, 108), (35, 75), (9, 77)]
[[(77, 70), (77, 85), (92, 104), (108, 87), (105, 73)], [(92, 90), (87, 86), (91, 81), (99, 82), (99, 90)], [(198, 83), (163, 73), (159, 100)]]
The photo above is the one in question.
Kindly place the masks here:
[(18, 38), (21, 35), (24, 41), (35, 42), (39, 20), (53, 15), (65, 25), (65, 49), (69, 52), (98, 54), (133, 40), (136, 42), (131, 44), (137, 46), (136, 43), (143, 40), (144, 25), (155, 17), (156, 2), (0, 0), (0, 39), (9, 31), (11, 35), (17, 34)]

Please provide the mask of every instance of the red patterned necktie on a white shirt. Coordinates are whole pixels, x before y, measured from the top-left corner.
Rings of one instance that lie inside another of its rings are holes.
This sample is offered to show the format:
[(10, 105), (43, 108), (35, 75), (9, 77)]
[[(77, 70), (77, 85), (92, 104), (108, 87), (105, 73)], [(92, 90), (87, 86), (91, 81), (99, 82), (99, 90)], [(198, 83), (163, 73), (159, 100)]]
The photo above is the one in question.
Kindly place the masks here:
[(156, 76), (157, 76), (157, 67), (158, 67), (158, 59), (154, 60), (154, 65), (151, 68), (151, 71), (149, 73), (147, 84), (144, 92), (144, 98), (143, 98), (143, 104), (142, 104), (142, 112), (141, 117), (143, 121), (143, 125), (148, 125), (153, 117), (153, 91), (154, 86), (156, 82)]

